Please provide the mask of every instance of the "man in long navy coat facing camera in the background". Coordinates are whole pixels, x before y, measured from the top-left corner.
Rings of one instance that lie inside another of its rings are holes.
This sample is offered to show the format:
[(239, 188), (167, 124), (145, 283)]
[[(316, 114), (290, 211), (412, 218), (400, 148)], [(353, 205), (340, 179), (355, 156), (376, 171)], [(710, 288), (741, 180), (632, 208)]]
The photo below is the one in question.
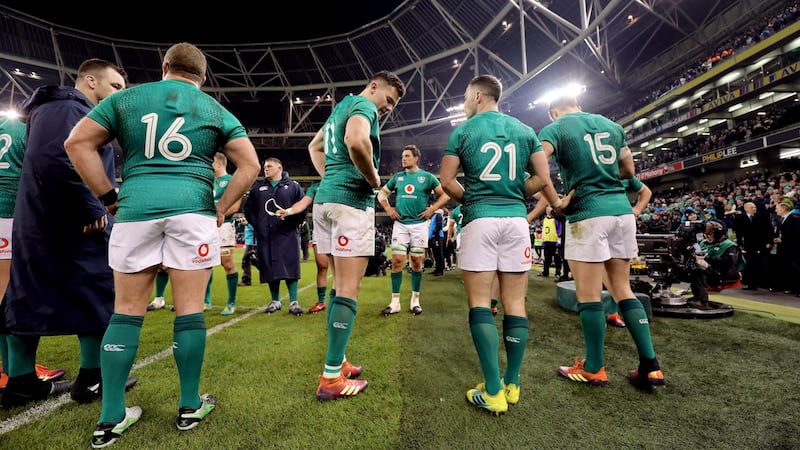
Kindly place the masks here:
[(264, 311), (272, 314), (281, 309), (280, 282), (289, 290), (289, 312), (303, 314), (297, 297), (300, 279), (300, 224), (302, 214), (279, 218), (276, 212), (286, 209), (305, 196), (300, 185), (289, 178), (277, 158), (264, 161), (264, 180), (250, 188), (244, 217), (253, 224), (258, 242), (259, 280), (269, 283), (272, 301)]

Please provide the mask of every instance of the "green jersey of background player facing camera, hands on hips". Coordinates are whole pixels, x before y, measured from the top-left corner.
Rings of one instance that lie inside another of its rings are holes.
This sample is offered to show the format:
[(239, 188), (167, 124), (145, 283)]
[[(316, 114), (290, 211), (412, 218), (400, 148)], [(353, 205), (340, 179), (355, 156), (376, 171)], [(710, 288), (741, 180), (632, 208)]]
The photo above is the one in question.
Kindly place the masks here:
[(419, 214), (428, 207), (431, 191), (439, 186), (439, 179), (432, 173), (417, 169), (415, 172), (397, 172), (386, 182), (386, 189), (395, 192), (395, 209), (400, 214), (400, 223), (411, 225), (425, 222)]

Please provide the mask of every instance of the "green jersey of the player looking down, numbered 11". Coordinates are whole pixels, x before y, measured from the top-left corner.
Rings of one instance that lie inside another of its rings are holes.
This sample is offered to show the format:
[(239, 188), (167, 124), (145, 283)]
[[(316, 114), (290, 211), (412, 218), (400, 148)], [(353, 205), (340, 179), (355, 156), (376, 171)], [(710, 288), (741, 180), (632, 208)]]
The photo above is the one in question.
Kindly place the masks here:
[(325, 148), (325, 175), (317, 188), (314, 203), (340, 203), (361, 210), (375, 207), (375, 192), (350, 159), (344, 143), (347, 120), (356, 114), (371, 124), (372, 162), (380, 167), (381, 139), (378, 108), (366, 97), (348, 95), (339, 102), (322, 125)]

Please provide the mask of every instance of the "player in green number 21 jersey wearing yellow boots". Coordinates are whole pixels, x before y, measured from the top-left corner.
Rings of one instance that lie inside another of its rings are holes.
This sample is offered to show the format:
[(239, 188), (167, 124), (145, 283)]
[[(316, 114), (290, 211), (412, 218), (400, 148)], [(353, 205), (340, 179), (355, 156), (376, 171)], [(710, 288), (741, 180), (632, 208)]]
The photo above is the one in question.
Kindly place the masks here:
[[(538, 190), (558, 195), (532, 128), (501, 113), (503, 87), (496, 77), (473, 78), (464, 93), (467, 121), (450, 135), (442, 158), (444, 191), (462, 204), (458, 265), (469, 305), (469, 327), (484, 381), (467, 401), (494, 414), (519, 401), (519, 373), (528, 342), (525, 294), (531, 267), (527, 198)], [(456, 179), (459, 166), (464, 185)], [(526, 172), (531, 174), (526, 178)], [(499, 338), (491, 311), (495, 277), (503, 303), (507, 366), (499, 368)]]

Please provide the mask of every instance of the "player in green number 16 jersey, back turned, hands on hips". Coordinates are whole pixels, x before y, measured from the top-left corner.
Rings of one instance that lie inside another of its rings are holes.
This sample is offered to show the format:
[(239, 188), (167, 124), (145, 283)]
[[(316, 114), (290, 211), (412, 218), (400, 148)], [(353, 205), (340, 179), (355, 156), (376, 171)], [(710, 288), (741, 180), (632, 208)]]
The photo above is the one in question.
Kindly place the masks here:
[[(175, 426), (196, 427), (215, 407), (199, 395), (206, 343), (203, 297), (220, 264), (218, 227), (260, 170), (247, 131), (202, 92), (206, 57), (178, 43), (164, 54), (162, 80), (106, 97), (70, 133), (65, 147), (81, 178), (116, 223), (109, 245), (115, 304), (103, 337), (103, 404), (91, 445), (116, 441), (141, 416), (125, 407), (125, 380), (139, 346), (147, 301), (163, 264), (172, 280), (173, 354), (180, 398)], [(116, 139), (123, 150), (119, 193), (103, 170), (97, 148)], [(236, 170), (214, 204), (214, 155), (222, 149)]]

